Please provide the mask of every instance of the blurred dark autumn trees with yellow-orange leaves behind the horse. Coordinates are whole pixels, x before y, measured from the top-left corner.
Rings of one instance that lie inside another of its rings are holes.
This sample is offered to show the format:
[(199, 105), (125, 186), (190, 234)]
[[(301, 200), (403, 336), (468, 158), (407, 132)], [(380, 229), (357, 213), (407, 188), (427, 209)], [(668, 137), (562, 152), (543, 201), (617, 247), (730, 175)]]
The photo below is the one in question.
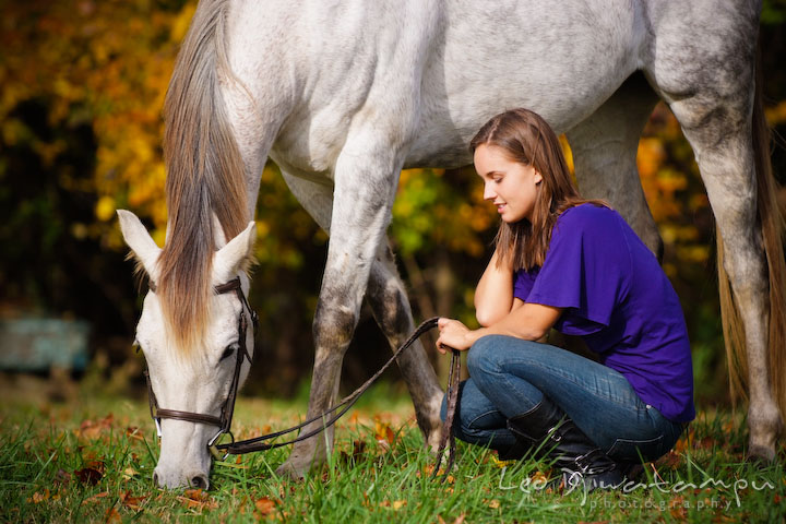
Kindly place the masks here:
[[(0, 380), (7, 384), (34, 373), (50, 380), (55, 396), (67, 397), (80, 383), (143, 394), (142, 357), (131, 349), (141, 295), (115, 210), (136, 213), (163, 243), (162, 107), (194, 7), (183, 0), (0, 0)], [(765, 105), (781, 182), (785, 28), (786, 1), (765, 0)], [(728, 379), (714, 222), (693, 153), (663, 104), (641, 139), (638, 162), (666, 245), (664, 266), (688, 320), (696, 401), (723, 404)], [(302, 394), (327, 238), (273, 164), (262, 174), (257, 221), (250, 301), (261, 323), (245, 391)], [(416, 322), (439, 314), (477, 325), (473, 291), (497, 223), (472, 168), (402, 174), (390, 236)], [(427, 343), (443, 370), (445, 360), (431, 347)], [(389, 355), (365, 314), (347, 353), (343, 390)], [(404, 391), (397, 370), (388, 379)]]

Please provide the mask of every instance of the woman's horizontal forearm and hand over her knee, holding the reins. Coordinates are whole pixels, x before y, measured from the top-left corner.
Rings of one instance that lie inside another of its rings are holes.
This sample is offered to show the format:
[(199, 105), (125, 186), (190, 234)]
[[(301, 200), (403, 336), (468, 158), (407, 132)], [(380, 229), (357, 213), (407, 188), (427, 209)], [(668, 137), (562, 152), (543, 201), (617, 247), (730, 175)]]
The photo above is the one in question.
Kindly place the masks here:
[[(521, 300), (516, 299), (516, 302)], [(510, 313), (499, 322), (474, 331), (457, 320), (440, 319), (437, 348), (440, 353), (444, 353), (442, 345), (458, 350), (469, 349), (475, 341), (486, 335), (508, 335), (525, 341), (537, 341), (548, 333), (562, 314), (562, 310), (563, 308), (540, 303), (515, 303)]]

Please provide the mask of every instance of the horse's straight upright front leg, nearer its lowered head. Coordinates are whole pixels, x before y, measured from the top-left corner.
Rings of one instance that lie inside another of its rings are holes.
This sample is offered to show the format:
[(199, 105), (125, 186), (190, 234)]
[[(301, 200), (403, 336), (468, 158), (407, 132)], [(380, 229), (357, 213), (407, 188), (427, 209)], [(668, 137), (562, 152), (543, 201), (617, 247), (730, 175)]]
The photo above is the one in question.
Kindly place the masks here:
[[(342, 153), (335, 168), (327, 262), (313, 321), (314, 368), (308, 418), (329, 409), (338, 392), (342, 362), (357, 325), (360, 306), (379, 243), (390, 223), (401, 162), (390, 146), (362, 147), (377, 155)], [(357, 150), (356, 150), (357, 151)], [(302, 429), (322, 426), (315, 421)], [(295, 444), (277, 473), (302, 478), (324, 462), (333, 429)]]

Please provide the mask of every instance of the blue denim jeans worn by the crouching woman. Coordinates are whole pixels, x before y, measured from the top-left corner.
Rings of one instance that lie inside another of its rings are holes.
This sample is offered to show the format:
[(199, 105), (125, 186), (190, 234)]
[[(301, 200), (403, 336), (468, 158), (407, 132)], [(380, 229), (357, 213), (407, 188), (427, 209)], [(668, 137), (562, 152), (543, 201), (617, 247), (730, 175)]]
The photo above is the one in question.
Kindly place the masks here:
[[(458, 390), (456, 438), (495, 450), (515, 442), (507, 421), (545, 396), (617, 462), (654, 461), (677, 442), (683, 425), (644, 404), (614, 369), (559, 347), (511, 336), (478, 340), (467, 355), (469, 379)], [(445, 404), (442, 404), (444, 419)]]

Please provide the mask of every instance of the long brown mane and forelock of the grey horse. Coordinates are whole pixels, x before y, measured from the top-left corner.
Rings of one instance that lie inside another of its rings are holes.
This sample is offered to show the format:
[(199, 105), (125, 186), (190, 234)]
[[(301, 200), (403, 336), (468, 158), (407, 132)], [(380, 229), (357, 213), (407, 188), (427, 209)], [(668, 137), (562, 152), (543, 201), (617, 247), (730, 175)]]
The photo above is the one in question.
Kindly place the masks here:
[(204, 340), (213, 293), (213, 215), (226, 238), (248, 223), (243, 164), (219, 87), (222, 75), (231, 76), (226, 11), (226, 0), (200, 2), (164, 104), (169, 217), (156, 293), (170, 343), (183, 356)]

